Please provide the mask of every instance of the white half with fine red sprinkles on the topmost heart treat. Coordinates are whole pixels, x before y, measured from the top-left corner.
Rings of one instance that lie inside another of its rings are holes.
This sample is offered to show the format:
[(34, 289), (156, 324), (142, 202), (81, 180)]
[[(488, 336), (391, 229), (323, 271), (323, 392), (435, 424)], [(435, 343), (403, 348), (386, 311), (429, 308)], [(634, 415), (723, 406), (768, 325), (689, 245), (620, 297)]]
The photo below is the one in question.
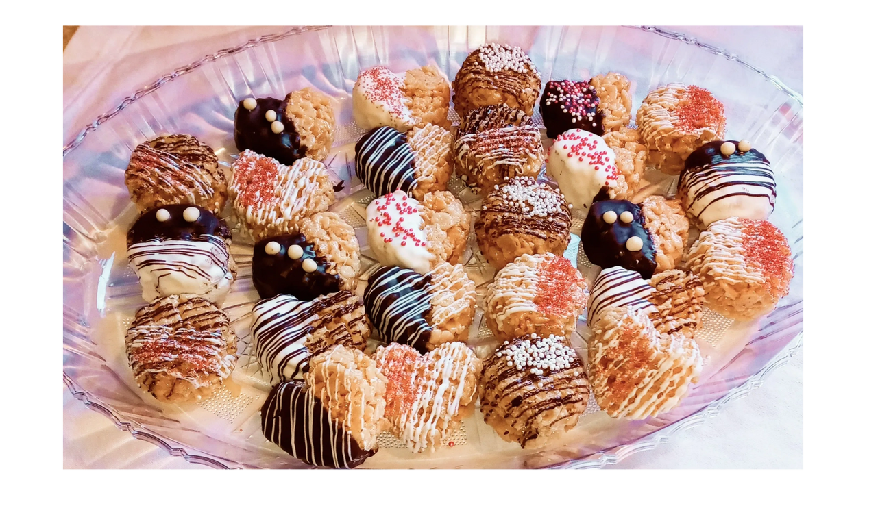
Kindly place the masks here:
[(392, 126), (407, 132), (420, 123), (408, 108), (405, 73), (397, 74), (383, 65), (364, 69), (353, 86), (353, 118), (365, 130)]

